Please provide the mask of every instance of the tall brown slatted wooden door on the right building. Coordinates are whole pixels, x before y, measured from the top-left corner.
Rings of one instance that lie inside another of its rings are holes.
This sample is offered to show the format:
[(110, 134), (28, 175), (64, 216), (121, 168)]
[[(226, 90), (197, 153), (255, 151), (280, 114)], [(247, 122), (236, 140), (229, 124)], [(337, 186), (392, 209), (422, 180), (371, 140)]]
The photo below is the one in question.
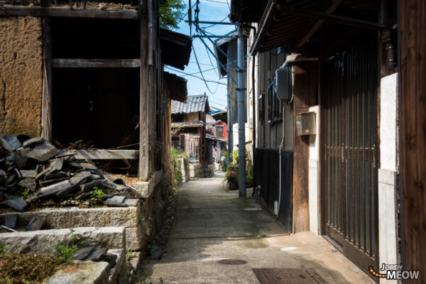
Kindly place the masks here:
[(325, 233), (366, 270), (378, 263), (377, 48), (322, 63)]

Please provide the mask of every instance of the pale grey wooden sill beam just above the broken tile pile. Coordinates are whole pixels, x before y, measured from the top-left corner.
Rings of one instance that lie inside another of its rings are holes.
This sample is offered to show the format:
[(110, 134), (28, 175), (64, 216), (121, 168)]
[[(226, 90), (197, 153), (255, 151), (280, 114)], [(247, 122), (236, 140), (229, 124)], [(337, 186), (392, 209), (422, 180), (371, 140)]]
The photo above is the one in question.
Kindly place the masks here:
[(136, 160), (139, 158), (138, 150), (65, 150), (65, 154), (75, 154), (77, 160), (90, 158), (92, 160)]

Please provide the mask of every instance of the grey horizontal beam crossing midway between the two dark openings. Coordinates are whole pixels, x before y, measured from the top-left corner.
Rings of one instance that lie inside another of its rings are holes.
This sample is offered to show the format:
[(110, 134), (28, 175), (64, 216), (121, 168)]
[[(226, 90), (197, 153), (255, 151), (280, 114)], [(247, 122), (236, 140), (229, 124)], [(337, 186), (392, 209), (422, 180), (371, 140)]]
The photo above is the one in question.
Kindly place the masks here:
[(52, 67), (57, 68), (87, 68), (87, 67), (141, 67), (140, 59), (52, 59)]

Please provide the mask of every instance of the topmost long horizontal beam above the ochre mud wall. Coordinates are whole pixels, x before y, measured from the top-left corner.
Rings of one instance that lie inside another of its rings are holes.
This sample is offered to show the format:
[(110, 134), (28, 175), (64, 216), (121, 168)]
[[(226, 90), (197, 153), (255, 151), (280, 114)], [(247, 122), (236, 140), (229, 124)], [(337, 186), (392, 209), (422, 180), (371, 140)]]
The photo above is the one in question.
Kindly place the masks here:
[(67, 9), (55, 7), (2, 7), (0, 16), (138, 19), (137, 10)]

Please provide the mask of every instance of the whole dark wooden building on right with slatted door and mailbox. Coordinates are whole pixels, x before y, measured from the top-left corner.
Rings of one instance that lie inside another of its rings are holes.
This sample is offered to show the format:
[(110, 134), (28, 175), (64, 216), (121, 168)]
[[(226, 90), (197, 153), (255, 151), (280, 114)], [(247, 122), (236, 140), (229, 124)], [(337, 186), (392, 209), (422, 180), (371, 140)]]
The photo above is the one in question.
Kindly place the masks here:
[(264, 204), (366, 273), (421, 271), (406, 283), (426, 275), (424, 13), (415, 0), (231, 1), (231, 19), (256, 28), (247, 89)]

